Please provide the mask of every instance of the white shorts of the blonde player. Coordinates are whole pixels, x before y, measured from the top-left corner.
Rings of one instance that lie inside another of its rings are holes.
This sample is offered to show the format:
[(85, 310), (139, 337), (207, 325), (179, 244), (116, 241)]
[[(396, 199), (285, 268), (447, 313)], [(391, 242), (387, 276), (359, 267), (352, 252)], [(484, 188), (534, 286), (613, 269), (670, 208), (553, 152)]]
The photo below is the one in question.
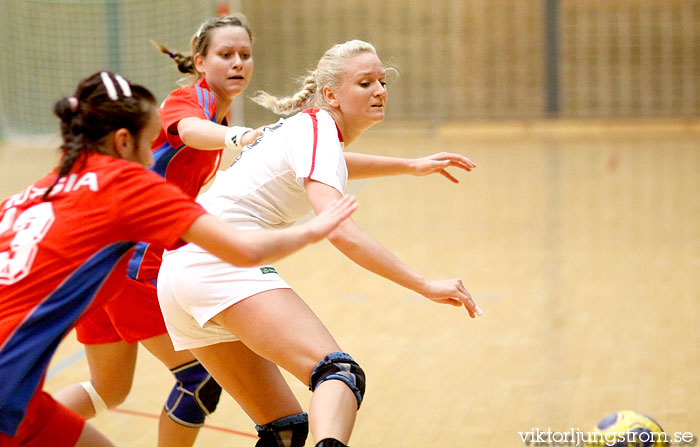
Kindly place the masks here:
[(168, 252), (158, 274), (158, 301), (176, 351), (238, 340), (209, 320), (255, 294), (290, 288), (274, 267), (234, 267), (206, 252)]

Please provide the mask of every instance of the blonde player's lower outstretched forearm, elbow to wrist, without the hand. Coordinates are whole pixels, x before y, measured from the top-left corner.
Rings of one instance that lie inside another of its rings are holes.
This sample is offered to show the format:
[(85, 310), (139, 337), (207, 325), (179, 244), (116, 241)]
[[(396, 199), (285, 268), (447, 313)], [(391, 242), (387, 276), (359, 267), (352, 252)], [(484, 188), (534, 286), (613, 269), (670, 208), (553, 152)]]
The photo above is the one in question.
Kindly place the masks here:
[(328, 240), (360, 267), (423, 294), (426, 279), (352, 220), (341, 224)]

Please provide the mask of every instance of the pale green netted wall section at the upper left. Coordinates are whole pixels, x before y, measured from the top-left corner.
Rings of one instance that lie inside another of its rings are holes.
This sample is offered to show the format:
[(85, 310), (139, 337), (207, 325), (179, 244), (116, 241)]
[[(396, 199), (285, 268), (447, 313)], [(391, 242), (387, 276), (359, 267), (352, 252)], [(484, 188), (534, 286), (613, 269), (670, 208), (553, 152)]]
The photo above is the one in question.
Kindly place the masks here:
[(212, 1), (0, 0), (0, 135), (54, 133), (54, 103), (98, 70), (158, 98), (182, 77), (150, 39), (187, 50)]

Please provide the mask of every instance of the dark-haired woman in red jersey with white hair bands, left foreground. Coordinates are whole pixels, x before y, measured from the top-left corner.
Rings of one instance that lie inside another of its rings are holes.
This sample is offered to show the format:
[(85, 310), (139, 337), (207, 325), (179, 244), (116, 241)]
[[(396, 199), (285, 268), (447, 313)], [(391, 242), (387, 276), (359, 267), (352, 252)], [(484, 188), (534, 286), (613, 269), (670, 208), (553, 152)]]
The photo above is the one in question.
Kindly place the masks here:
[[(42, 391), (56, 347), (123, 282), (135, 241), (190, 241), (238, 265), (286, 256), (356, 208), (346, 197), (298, 228), (247, 232), (143, 169), (160, 128), (153, 95), (108, 72), (56, 103), (60, 166), (0, 204), (0, 446), (111, 446)], [(136, 308), (135, 310), (138, 310)]]

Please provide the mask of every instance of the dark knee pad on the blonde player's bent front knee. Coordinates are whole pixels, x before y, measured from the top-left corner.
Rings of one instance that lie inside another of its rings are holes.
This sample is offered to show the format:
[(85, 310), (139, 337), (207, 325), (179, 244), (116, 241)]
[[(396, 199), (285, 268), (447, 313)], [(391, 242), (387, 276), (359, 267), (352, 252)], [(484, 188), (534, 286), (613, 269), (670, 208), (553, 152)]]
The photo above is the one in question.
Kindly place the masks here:
[(357, 408), (362, 404), (365, 395), (365, 372), (360, 368), (350, 354), (345, 352), (332, 352), (316, 365), (311, 373), (309, 389), (314, 391), (326, 380), (340, 380), (355, 393)]

